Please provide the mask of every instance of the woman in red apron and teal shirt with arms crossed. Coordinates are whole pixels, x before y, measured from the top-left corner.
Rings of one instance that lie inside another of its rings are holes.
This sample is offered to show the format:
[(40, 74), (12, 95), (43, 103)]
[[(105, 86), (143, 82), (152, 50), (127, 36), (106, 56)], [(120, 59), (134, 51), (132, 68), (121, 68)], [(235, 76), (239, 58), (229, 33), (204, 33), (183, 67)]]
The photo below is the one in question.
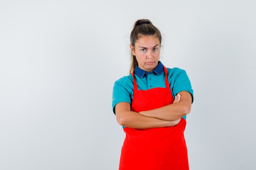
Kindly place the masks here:
[(135, 22), (130, 41), (130, 75), (113, 88), (112, 108), (126, 133), (119, 170), (188, 170), (189, 78), (159, 61), (162, 36), (150, 20)]

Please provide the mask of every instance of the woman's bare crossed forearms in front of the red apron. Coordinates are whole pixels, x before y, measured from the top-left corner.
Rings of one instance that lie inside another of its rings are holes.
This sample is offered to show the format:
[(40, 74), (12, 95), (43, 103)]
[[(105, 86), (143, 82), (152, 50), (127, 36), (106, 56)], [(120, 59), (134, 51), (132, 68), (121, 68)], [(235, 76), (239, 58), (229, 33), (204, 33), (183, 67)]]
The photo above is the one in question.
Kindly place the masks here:
[(115, 106), (117, 122), (129, 128), (159, 128), (175, 126), (180, 118), (189, 114), (192, 97), (187, 91), (181, 91), (175, 97), (173, 104), (153, 110), (133, 112), (130, 104), (120, 102)]

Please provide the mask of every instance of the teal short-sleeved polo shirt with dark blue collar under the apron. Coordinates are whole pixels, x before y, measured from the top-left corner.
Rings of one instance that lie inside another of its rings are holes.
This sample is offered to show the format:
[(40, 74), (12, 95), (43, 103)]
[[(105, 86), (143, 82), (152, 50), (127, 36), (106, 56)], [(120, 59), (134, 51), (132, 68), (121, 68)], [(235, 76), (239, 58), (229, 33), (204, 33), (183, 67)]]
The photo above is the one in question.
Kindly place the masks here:
[[(159, 61), (157, 67), (151, 72), (144, 71), (138, 66), (135, 67), (134, 72), (138, 90), (149, 90), (157, 87), (166, 88), (164, 66), (162, 62)], [(167, 68), (167, 78), (173, 98), (175, 98), (181, 91), (188, 91), (191, 94), (193, 103), (193, 89), (186, 71), (176, 67)], [(130, 74), (118, 79), (114, 84), (112, 93), (113, 112), (115, 113), (115, 106), (120, 102), (128, 102), (131, 105), (132, 98), (133, 77), (132, 74)]]

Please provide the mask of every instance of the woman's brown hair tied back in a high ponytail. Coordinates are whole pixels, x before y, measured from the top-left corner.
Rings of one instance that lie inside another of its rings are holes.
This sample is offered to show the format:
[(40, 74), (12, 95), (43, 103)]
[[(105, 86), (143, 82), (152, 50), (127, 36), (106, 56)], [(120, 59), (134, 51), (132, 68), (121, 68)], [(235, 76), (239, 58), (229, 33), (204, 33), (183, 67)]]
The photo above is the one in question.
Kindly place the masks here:
[[(147, 35), (155, 35), (160, 42), (162, 42), (162, 35), (160, 31), (155, 27), (150, 20), (142, 19), (137, 20), (133, 26), (131, 35), (130, 35), (130, 42), (132, 46), (135, 46), (135, 42), (139, 40), (141, 36)], [(131, 52), (131, 65), (130, 65), (130, 73), (134, 71), (135, 66), (138, 65), (135, 55)]]

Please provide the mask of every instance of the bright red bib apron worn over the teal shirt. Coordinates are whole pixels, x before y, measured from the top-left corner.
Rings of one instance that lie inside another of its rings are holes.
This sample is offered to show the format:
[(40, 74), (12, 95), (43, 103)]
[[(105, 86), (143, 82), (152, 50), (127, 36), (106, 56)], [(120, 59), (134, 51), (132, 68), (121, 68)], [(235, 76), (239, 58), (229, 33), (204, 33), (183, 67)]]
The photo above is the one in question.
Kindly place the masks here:
[[(164, 67), (166, 88), (138, 90), (133, 76), (132, 111), (152, 110), (174, 99)], [(126, 138), (121, 150), (119, 170), (189, 170), (184, 129), (186, 120), (172, 127), (134, 129), (124, 128)]]

